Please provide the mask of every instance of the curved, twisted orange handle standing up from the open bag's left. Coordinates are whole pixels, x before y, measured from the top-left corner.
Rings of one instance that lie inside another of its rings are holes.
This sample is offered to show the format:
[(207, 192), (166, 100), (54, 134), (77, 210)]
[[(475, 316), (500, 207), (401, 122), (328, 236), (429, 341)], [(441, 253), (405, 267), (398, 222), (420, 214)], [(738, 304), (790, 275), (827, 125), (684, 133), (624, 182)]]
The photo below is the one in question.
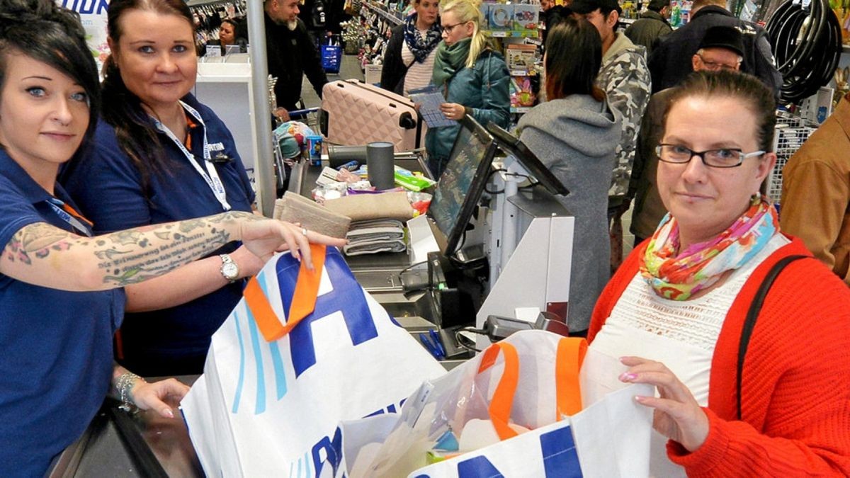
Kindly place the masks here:
[(519, 384), (519, 354), (516, 347), (506, 342), (496, 342), (496, 344), (490, 345), (487, 350), (484, 350), (478, 373), (484, 373), (485, 370), (492, 367), (500, 352), (505, 357), (505, 370), (501, 373), (501, 379), (499, 384), (496, 385), (496, 391), (493, 393), (487, 412), (490, 414), (493, 428), (496, 429), (496, 435), (499, 435), (500, 440), (507, 440), (518, 435), (515, 430), (507, 425), (511, 419), (513, 395), (517, 391), (517, 384)]

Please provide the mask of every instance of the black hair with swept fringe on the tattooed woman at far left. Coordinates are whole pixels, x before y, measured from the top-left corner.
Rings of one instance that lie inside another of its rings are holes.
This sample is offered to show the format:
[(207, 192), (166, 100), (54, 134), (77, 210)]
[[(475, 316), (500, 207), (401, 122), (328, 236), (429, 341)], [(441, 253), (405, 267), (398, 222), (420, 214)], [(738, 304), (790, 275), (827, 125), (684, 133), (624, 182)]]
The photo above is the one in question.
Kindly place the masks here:
[(88, 143), (98, 124), (100, 88), (79, 15), (53, 0), (0, 0), (0, 91), (10, 54), (50, 65), (85, 90), (89, 114), (83, 143)]

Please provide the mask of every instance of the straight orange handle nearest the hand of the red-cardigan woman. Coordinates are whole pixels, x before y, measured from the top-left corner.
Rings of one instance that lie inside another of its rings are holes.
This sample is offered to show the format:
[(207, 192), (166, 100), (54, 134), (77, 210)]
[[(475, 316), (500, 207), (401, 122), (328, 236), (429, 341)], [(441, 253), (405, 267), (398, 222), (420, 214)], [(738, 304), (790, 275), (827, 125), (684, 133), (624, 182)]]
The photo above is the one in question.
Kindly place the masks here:
[(555, 356), (555, 395), (558, 403), (556, 421), (581, 412), (579, 371), (585, 355), (587, 340), (579, 337), (558, 340), (558, 354)]

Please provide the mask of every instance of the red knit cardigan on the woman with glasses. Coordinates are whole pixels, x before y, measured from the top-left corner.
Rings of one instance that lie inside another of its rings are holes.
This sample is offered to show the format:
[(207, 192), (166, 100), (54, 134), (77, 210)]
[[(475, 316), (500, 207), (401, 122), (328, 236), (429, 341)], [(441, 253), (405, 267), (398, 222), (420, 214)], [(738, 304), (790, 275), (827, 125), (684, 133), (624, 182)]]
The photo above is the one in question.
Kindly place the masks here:
[[(635, 274), (643, 242), (628, 256), (593, 310), (593, 340)], [(799, 239), (753, 271), (728, 311), (711, 359), (706, 442), (667, 454), (689, 476), (850, 476), (850, 289), (825, 265), (802, 259), (765, 298), (744, 362), (737, 420), (738, 345), (758, 286), (779, 259), (811, 255)]]

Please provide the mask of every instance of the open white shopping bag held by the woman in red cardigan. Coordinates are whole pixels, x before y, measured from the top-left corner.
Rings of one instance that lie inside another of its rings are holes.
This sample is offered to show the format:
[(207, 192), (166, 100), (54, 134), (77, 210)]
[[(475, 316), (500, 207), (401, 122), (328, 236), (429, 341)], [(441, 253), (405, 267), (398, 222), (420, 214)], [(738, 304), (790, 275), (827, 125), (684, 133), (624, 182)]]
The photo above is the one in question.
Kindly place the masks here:
[[(340, 471), (350, 478), (647, 476), (652, 412), (632, 398), (651, 394), (652, 387), (634, 385), (581, 409), (578, 367), (587, 344), (575, 340), (515, 333), (422, 384), (394, 425), (392, 416), (343, 423)], [(506, 401), (506, 394), (513, 400)], [(469, 424), (486, 428), (490, 422), (481, 447), (465, 448)], [(511, 437), (505, 424), (530, 431)], [(422, 468), (446, 430), (460, 436), (464, 453)]]

